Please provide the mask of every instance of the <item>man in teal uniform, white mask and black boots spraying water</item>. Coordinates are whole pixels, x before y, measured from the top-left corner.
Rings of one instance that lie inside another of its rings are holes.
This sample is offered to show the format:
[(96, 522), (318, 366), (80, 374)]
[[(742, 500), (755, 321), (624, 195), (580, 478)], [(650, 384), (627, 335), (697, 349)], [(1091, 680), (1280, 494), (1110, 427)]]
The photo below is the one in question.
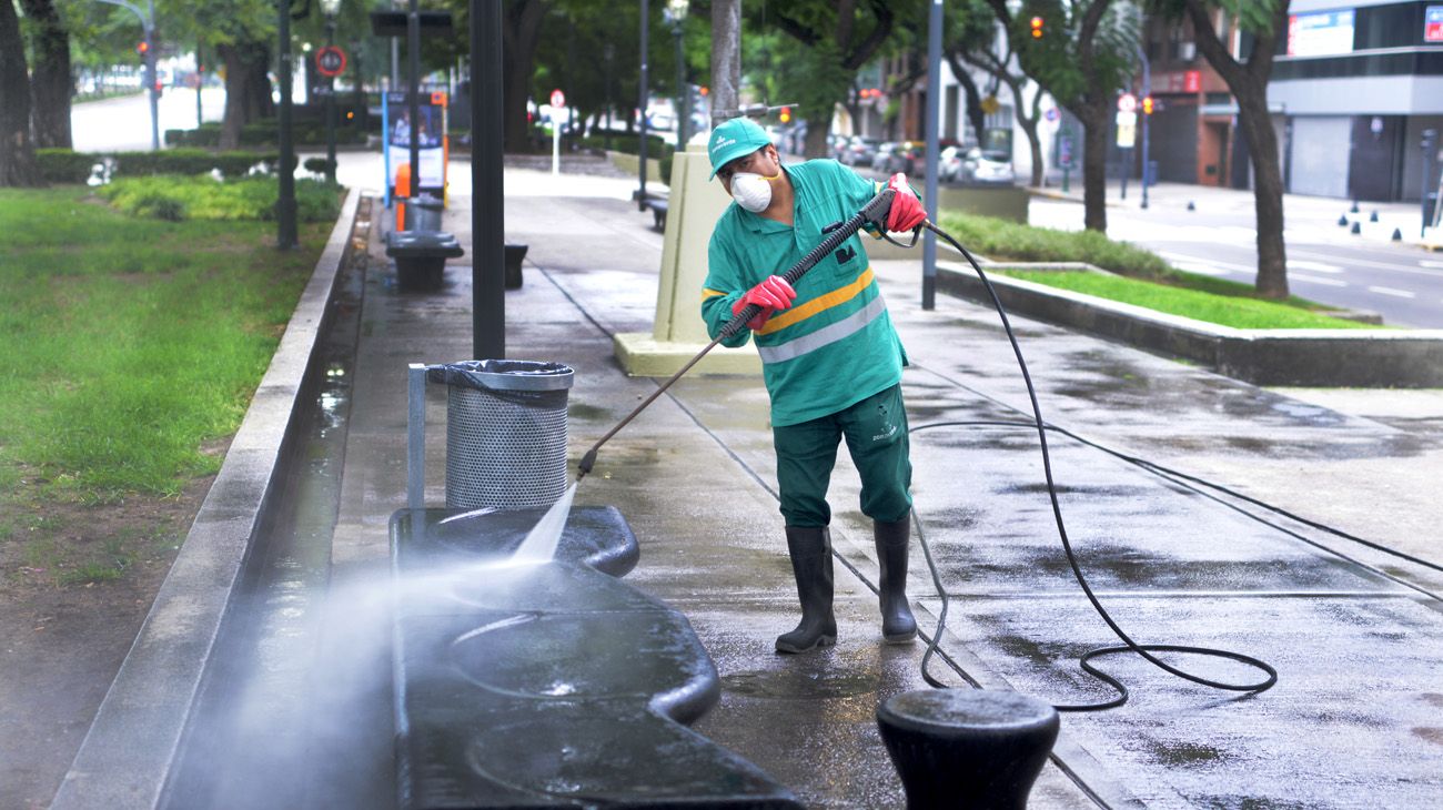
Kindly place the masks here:
[[(906, 352), (892, 327), (861, 239), (853, 233), (797, 281), (781, 272), (824, 238), (823, 229), (861, 210), (880, 190), (835, 160), (782, 166), (766, 131), (749, 118), (720, 124), (707, 144), (711, 177), (732, 196), (707, 249), (701, 317), (720, 334), (749, 304), (760, 307), (726, 346), (755, 337), (771, 398), (776, 481), (786, 551), (802, 618), (776, 638), (779, 653), (834, 644), (831, 509), (827, 486), (837, 445), (861, 476), (861, 512), (873, 520), (880, 564), (882, 636), (916, 638), (906, 598), (912, 464), (902, 404)], [(895, 174), (885, 223), (867, 229), (913, 231), (926, 212)]]

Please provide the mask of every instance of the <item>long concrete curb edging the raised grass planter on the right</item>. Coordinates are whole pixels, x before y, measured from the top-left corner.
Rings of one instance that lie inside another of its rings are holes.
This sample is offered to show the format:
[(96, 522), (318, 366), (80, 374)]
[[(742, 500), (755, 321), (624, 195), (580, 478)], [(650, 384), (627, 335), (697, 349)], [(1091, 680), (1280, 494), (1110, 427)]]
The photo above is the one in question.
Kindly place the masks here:
[[(1196, 360), (1254, 385), (1443, 386), (1443, 330), (1229, 329), (1016, 278), (988, 280), (1010, 313)], [(970, 267), (939, 264), (937, 288), (991, 303)]]

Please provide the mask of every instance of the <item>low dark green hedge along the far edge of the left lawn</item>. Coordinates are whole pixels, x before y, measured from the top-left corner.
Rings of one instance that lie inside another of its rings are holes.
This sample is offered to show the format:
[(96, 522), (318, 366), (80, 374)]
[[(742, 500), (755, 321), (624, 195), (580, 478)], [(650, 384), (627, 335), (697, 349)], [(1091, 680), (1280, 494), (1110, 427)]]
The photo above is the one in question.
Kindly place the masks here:
[(169, 148), (162, 151), (84, 153), (68, 148), (36, 150), (40, 173), (51, 183), (84, 183), (97, 164), (108, 163), (108, 176), (141, 177), (147, 174), (208, 174), (219, 170), (227, 177), (244, 177), (261, 166), (276, 173), (280, 156), (254, 151), (208, 151), (203, 148)]

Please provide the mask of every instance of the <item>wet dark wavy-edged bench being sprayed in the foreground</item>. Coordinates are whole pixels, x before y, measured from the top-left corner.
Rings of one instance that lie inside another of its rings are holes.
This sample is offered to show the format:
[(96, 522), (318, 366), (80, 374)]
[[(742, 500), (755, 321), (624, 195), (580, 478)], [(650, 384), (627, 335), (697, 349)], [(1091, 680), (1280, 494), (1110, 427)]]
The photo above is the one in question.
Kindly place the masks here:
[(401, 809), (801, 807), (685, 728), (720, 679), (681, 613), (618, 579), (639, 553), (620, 512), (573, 509), (548, 562), (481, 566), (544, 512), (391, 517)]

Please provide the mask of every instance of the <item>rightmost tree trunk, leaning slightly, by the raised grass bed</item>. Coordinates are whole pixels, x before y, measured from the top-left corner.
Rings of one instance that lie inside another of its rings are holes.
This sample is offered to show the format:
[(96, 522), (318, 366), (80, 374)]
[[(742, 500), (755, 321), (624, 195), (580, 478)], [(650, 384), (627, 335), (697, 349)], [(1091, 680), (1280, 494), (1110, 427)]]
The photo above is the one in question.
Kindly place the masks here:
[[(1241, 92), (1240, 92), (1241, 91)], [(1268, 298), (1287, 297), (1287, 248), (1283, 242), (1283, 172), (1277, 133), (1267, 111), (1267, 85), (1232, 88), (1238, 121), (1253, 154), (1253, 208), (1257, 212), (1257, 290)]]

